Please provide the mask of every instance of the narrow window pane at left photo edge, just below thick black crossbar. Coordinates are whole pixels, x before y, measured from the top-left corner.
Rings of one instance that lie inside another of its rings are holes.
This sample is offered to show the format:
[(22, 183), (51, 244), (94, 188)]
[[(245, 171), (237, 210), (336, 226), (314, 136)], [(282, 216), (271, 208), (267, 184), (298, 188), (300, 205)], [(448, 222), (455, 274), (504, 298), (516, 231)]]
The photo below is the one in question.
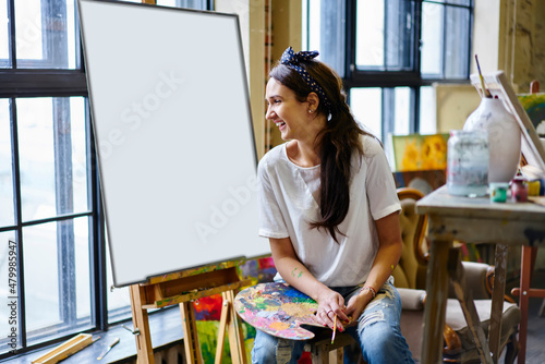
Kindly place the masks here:
[(15, 222), (11, 162), (10, 101), (0, 99), (0, 227)]

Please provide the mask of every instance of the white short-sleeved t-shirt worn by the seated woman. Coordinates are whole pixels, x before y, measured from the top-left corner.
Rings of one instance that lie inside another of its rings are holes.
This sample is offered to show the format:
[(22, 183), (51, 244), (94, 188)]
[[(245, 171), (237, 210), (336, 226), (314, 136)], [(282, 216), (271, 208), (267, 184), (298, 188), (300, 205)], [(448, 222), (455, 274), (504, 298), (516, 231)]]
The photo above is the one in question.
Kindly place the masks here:
[(311, 229), (319, 218), (319, 166), (302, 168), (287, 155), (287, 144), (268, 151), (259, 161), (259, 235), (290, 238), (305, 267), (328, 287), (363, 283), (378, 250), (374, 220), (401, 206), (384, 150), (372, 136), (362, 136), (364, 156), (352, 158), (350, 207), (339, 225), (346, 236), (335, 242), (325, 229)]

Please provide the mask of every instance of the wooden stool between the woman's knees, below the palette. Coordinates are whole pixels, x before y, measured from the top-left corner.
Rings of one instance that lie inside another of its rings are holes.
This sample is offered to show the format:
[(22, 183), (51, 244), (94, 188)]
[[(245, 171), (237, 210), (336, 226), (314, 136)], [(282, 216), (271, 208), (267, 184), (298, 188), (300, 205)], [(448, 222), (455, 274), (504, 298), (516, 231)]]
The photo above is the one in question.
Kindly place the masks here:
[(324, 330), (324, 335), (316, 335), (305, 344), (304, 350), (311, 353), (313, 364), (342, 364), (342, 348), (354, 342), (350, 335), (337, 332), (331, 344), (331, 331)]

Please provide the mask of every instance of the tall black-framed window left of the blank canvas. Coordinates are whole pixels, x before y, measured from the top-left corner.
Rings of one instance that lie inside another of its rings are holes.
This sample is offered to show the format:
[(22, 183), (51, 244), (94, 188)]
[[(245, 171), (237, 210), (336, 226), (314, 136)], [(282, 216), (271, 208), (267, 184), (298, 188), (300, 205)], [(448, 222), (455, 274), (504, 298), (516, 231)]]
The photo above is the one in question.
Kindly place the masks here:
[(0, 360), (131, 317), (109, 289), (82, 59), (75, 0), (0, 0)]

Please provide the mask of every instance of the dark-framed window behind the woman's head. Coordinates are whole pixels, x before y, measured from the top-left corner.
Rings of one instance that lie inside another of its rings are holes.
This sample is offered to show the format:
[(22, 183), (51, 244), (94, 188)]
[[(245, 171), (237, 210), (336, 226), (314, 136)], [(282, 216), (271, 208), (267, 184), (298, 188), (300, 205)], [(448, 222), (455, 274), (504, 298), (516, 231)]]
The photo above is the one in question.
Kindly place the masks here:
[(303, 0), (303, 49), (341, 75), (356, 119), (389, 133), (436, 132), (433, 83), (468, 82), (472, 0)]

